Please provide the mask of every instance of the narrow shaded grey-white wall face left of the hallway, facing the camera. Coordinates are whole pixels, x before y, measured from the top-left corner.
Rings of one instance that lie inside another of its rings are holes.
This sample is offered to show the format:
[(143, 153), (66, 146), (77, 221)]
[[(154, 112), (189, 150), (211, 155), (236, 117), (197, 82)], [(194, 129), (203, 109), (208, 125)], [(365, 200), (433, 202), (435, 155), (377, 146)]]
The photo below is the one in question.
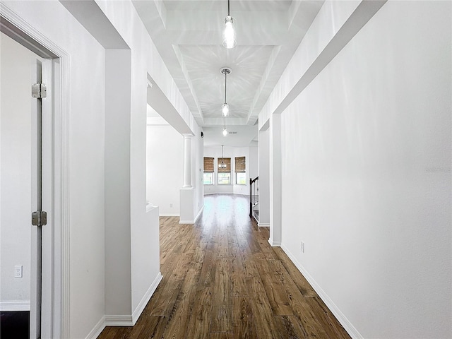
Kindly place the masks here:
[[(105, 51), (105, 314), (131, 314), (130, 49)], [(124, 93), (117, 95), (118, 91)], [(118, 213), (121, 211), (121, 213)]]

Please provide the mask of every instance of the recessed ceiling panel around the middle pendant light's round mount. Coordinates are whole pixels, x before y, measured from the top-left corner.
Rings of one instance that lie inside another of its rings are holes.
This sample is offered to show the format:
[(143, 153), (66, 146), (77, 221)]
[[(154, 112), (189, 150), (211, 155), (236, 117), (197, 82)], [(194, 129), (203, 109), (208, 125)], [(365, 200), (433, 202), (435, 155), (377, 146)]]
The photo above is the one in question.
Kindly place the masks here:
[[(204, 119), (218, 117), (225, 102), (223, 66), (232, 69), (227, 75), (230, 117), (246, 119), (273, 46), (238, 46), (226, 53), (220, 45), (183, 45), (179, 49)], [(193, 112), (196, 107), (190, 109)]]

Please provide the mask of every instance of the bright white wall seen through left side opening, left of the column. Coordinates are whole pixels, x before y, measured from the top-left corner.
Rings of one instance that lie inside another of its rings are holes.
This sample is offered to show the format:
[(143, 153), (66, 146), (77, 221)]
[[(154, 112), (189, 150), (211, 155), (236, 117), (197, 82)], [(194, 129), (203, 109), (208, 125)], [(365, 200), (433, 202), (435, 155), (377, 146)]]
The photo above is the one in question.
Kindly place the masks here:
[(172, 126), (149, 125), (146, 150), (146, 196), (160, 215), (179, 215), (183, 184), (184, 138)]

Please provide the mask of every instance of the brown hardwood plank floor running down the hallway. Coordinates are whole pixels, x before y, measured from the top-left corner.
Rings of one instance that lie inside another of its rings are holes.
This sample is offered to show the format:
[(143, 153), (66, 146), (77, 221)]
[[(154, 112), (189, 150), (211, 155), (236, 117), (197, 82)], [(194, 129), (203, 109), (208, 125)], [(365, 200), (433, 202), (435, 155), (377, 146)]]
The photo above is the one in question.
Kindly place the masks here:
[(160, 218), (162, 282), (133, 327), (100, 339), (345, 339), (350, 336), (268, 228), (249, 218), (246, 196), (205, 197), (195, 225)]

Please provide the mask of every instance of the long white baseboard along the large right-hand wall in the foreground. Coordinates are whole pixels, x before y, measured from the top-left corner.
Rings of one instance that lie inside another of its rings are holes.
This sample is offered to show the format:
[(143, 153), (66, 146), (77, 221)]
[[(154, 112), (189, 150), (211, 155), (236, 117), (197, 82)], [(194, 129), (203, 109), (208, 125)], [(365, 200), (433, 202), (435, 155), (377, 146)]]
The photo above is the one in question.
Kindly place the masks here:
[(302, 273), (304, 278), (308, 280), (308, 283), (311, 284), (312, 288), (316, 291), (316, 293), (319, 295), (319, 297), (323, 300), (323, 302), (326, 304), (328, 309), (334, 314), (336, 319), (340, 322), (340, 324), (345, 328), (345, 331), (352, 337), (352, 339), (364, 339), (364, 337), (359, 333), (359, 331), (355, 328), (355, 326), (352, 325), (352, 323), (347, 319), (345, 314), (340, 311), (340, 309), (334, 304), (333, 300), (326, 294), (325, 291), (322, 290), (320, 285), (314, 280), (314, 278), (311, 277), (311, 275), (308, 273), (307, 270), (304, 269), (301, 263), (297, 261), (295, 256), (292, 255), (292, 253), (287, 249), (284, 244), (281, 245), (281, 248), (283, 251), (285, 251), (285, 254), (290, 258), (292, 263), (297, 266), (298, 270)]

